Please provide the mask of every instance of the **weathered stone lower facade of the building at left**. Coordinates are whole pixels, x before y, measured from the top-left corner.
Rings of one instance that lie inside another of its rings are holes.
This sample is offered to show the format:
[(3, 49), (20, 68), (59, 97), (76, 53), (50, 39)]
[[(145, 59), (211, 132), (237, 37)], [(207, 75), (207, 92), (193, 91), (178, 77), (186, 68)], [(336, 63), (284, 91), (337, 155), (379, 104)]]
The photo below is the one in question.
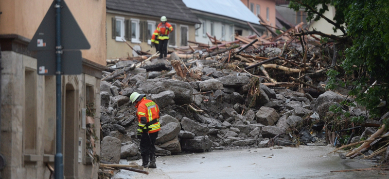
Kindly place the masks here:
[[(38, 160), (36, 162), (26, 162), (24, 161), (24, 152), (23, 152), (23, 119), (24, 119), (24, 90), (29, 90), (31, 87), (24, 86), (24, 71), (25, 68), (36, 70), (36, 59), (18, 54), (13, 51), (2, 51), (2, 67), (4, 69), (1, 71), (1, 151), (6, 158), (7, 165), (4, 170), (1, 171), (1, 175), (4, 179), (48, 179), (50, 171), (46, 167), (46, 162), (43, 160)], [(36, 76), (36, 150), (34, 155), (43, 159), (44, 149), (47, 145), (45, 143), (45, 131), (49, 130), (44, 126), (51, 128), (50, 130), (55, 131), (55, 125), (46, 125), (47, 120), (45, 117), (46, 108), (45, 103), (45, 78), (43, 75)], [(65, 84), (72, 83), (74, 87), (79, 92), (78, 95), (78, 105), (76, 106), (76, 124), (77, 128), (75, 135), (75, 143), (73, 144), (64, 144), (64, 149), (70, 147), (75, 147), (78, 151), (78, 137), (83, 138), (83, 161), (78, 163), (76, 160), (75, 168), (77, 169), (76, 177), (80, 179), (92, 178), (97, 179), (98, 165), (95, 165), (94, 168), (92, 165), (86, 165), (85, 157), (86, 156), (86, 129), (81, 127), (81, 119), (79, 114), (81, 108), (86, 108), (86, 99), (84, 96), (86, 93), (86, 84), (93, 86), (94, 97), (95, 97), (95, 106), (100, 106), (100, 79), (86, 75), (64, 75), (63, 76), (63, 99), (65, 98)], [(78, 81), (74, 83), (73, 81)], [(52, 99), (55, 101), (55, 99)], [(53, 103), (52, 108), (55, 110), (55, 102)], [(63, 106), (65, 101), (63, 101)], [(52, 110), (52, 109), (50, 109)], [(96, 107), (95, 112), (95, 131), (99, 131), (100, 123), (100, 107)], [(63, 115), (65, 113), (63, 112)], [(66, 126), (63, 126), (66, 130)], [(98, 138), (100, 139), (100, 134), (97, 133)], [(100, 152), (100, 142), (95, 141), (96, 152)], [(75, 153), (75, 157), (78, 156), (78, 153)], [(54, 166), (53, 162), (49, 163)], [(93, 172), (93, 174), (92, 174)]]

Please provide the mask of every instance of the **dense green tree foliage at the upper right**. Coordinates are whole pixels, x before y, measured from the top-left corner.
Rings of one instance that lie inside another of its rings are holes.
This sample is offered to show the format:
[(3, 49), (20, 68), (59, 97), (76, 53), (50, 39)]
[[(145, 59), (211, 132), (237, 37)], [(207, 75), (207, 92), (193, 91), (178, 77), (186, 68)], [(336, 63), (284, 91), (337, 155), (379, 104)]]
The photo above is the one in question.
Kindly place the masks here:
[[(333, 19), (326, 19), (327, 4), (336, 8)], [(295, 11), (301, 8), (307, 12), (307, 21), (324, 18), (333, 24), (334, 31), (341, 30), (336, 43), (344, 45), (341, 59), (342, 72), (331, 71), (329, 76), (345, 75), (348, 85), (353, 85), (351, 95), (358, 104), (366, 106), (373, 117), (380, 117), (389, 111), (389, 0), (292, 0), (289, 7)], [(319, 31), (319, 30), (318, 30)], [(359, 72), (356, 79), (351, 76)], [(331, 78), (330, 87), (336, 84)], [(370, 87), (373, 81), (378, 86)], [(368, 90), (367, 93), (364, 91)], [(377, 107), (380, 101), (387, 101), (385, 107)], [(388, 123), (388, 121), (385, 121)]]

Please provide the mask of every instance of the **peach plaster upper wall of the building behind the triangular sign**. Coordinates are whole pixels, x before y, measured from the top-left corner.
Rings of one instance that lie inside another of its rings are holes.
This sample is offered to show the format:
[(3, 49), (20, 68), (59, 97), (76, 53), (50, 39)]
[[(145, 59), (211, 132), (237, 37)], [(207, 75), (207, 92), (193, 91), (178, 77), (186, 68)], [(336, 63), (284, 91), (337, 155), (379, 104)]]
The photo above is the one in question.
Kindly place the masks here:
[[(53, 0), (0, 0), (0, 34), (32, 39)], [(90, 44), (85, 59), (106, 65), (106, 0), (66, 0)]]

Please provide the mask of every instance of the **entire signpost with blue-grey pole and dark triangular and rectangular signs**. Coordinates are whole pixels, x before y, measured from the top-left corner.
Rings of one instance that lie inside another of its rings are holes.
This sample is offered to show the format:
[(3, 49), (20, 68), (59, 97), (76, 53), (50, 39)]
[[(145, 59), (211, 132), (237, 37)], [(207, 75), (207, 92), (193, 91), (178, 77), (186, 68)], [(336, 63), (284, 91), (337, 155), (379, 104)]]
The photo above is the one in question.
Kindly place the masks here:
[(62, 0), (62, 3), (61, 0), (53, 0), (27, 48), (31, 51), (37, 51), (38, 75), (56, 75), (54, 176), (55, 179), (63, 179), (61, 75), (79, 75), (82, 73), (80, 49), (89, 49), (90, 45), (65, 0)]

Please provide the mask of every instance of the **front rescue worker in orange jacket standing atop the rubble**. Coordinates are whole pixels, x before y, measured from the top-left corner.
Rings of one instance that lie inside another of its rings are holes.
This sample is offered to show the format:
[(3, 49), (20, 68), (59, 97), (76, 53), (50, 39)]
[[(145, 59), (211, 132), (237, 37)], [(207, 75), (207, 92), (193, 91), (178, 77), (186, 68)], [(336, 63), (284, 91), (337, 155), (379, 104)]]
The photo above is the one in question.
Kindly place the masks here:
[(172, 25), (167, 23), (167, 18), (165, 16), (161, 17), (161, 23), (157, 26), (158, 30), (158, 40), (159, 40), (159, 58), (167, 56), (167, 45), (169, 42), (169, 33), (173, 31)]

